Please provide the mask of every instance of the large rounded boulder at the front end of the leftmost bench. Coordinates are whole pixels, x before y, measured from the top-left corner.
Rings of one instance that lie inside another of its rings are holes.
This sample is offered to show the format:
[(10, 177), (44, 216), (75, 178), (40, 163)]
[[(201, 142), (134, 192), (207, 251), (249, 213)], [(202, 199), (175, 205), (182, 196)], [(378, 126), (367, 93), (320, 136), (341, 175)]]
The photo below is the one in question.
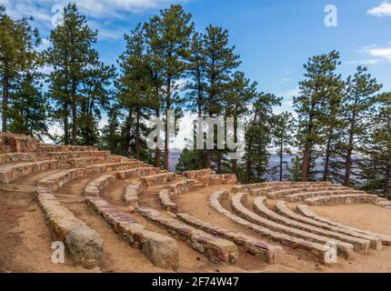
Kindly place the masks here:
[(75, 227), (65, 236), (65, 244), (76, 264), (85, 268), (93, 268), (99, 265), (102, 258), (102, 239), (88, 226)]

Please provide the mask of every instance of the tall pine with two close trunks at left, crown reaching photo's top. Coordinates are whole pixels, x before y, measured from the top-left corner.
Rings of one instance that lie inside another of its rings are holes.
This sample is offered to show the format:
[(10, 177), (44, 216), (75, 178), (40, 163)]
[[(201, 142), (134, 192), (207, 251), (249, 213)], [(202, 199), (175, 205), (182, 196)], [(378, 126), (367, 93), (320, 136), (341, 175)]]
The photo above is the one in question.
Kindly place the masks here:
[(77, 145), (78, 111), (83, 98), (88, 75), (96, 74), (97, 52), (93, 48), (97, 31), (88, 27), (85, 16), (74, 4), (64, 10), (64, 23), (50, 35), (52, 46), (45, 52), (50, 75), (49, 93), (56, 104), (55, 117), (64, 123), (64, 143), (69, 144), (69, 120), (72, 115), (72, 144)]

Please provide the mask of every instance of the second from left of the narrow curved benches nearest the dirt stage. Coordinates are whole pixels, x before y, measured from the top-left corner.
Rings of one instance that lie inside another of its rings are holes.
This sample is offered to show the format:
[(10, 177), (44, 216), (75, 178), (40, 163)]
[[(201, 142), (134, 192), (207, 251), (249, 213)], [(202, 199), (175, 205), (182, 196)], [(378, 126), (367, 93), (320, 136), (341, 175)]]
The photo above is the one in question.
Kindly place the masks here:
[[(245, 218), (249, 222), (255, 223), (256, 225), (259, 226), (267, 227), (277, 232), (284, 233), (288, 236), (296, 236), (298, 238), (305, 239), (308, 242), (314, 242), (314, 243), (325, 244), (325, 245), (331, 241), (335, 242), (329, 237), (311, 234), (304, 230), (281, 225), (270, 219), (266, 219), (262, 216), (258, 216), (256, 213), (248, 210), (246, 206), (242, 204), (243, 199), (246, 199), (246, 194), (242, 194), (242, 193), (236, 194), (236, 196), (232, 198), (232, 208), (238, 216)], [(337, 242), (337, 241), (335, 243), (339, 253), (345, 256), (346, 259), (351, 259), (353, 257), (353, 249), (354, 249), (353, 245), (344, 242)]]

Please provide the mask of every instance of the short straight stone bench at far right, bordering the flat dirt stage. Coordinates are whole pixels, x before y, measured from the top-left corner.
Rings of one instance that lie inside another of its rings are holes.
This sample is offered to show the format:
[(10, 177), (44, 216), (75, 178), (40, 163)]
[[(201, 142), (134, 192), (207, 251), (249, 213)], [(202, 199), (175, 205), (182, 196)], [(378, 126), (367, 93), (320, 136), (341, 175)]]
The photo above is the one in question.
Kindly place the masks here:
[(348, 204), (375, 204), (377, 196), (363, 194), (363, 195), (333, 195), (333, 196), (318, 196), (315, 198), (308, 198), (304, 202), (309, 206), (335, 206)]

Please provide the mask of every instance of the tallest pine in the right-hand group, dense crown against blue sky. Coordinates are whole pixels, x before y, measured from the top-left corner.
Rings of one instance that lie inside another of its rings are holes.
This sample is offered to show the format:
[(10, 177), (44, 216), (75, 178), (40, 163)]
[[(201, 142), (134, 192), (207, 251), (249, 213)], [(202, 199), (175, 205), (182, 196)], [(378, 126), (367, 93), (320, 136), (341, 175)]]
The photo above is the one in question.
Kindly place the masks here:
[(304, 65), (306, 70), (304, 81), (299, 83), (300, 92), (294, 97), (294, 106), (298, 115), (297, 141), (301, 150), (303, 166), (302, 181), (315, 179), (316, 146), (322, 145), (322, 121), (326, 112), (324, 105), (330, 98), (329, 87), (335, 79), (339, 54), (332, 51), (325, 55), (315, 55)]

